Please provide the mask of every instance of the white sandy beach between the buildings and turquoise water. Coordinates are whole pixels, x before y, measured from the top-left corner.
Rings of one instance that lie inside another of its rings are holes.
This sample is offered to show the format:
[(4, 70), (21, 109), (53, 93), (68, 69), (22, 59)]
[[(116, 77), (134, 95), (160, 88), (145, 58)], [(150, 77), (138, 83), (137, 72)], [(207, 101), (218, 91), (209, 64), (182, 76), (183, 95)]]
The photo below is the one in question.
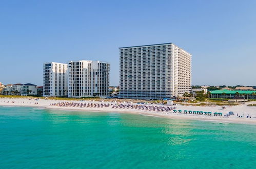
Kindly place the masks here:
[[(116, 113), (133, 113), (133, 114), (144, 114), (158, 117), (176, 118), (176, 119), (191, 119), (191, 120), (208, 120), (208, 121), (220, 121), (220, 122), (231, 122), (231, 123), (249, 123), (256, 124), (256, 107), (249, 107), (247, 104), (256, 102), (248, 102), (240, 105), (225, 106), (226, 109), (222, 110), (221, 106), (192, 106), (192, 105), (175, 105), (176, 110), (191, 110), (191, 111), (203, 111), (203, 112), (221, 112), (223, 116), (208, 116), (208, 115), (197, 115), (197, 114), (184, 114), (171, 112), (153, 112), (137, 109), (112, 109), (112, 106), (105, 108), (80, 108), (80, 107), (57, 107), (52, 106), (52, 103), (58, 102), (77, 102), (77, 103), (110, 103), (116, 104), (115, 102), (99, 102), (99, 101), (75, 101), (75, 100), (51, 100), (51, 99), (28, 99), (28, 98), (0, 98), (0, 105), (2, 106), (24, 106), (24, 107), (44, 107), (45, 109), (63, 109), (63, 110), (78, 110), (78, 111), (96, 111), (96, 112), (116, 112)], [(38, 103), (38, 104), (35, 104)], [(156, 104), (155, 104), (156, 105)], [(229, 117), (224, 117), (228, 112), (234, 112), (235, 115), (230, 115)], [(237, 117), (242, 116), (244, 117)], [(246, 118), (248, 114), (251, 118)]]

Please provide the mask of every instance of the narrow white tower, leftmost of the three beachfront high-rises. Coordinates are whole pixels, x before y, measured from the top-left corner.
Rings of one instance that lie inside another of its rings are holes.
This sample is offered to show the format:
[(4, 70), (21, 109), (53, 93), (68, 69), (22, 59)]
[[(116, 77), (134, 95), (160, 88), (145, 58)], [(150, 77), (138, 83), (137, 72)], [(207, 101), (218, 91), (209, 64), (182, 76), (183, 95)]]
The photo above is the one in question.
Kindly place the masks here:
[(68, 65), (57, 62), (44, 63), (43, 96), (67, 96)]

